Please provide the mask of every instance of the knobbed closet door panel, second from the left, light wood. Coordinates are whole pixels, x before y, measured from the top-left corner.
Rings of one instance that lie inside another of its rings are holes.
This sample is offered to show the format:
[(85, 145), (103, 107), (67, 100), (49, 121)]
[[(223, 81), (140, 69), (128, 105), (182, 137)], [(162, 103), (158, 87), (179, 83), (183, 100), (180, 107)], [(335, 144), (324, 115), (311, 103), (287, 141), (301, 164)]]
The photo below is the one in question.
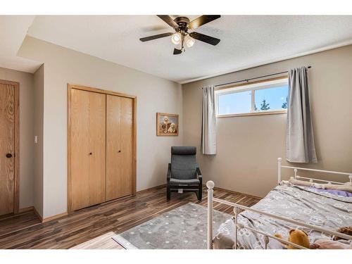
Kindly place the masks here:
[(89, 205), (106, 201), (106, 95), (89, 92)]

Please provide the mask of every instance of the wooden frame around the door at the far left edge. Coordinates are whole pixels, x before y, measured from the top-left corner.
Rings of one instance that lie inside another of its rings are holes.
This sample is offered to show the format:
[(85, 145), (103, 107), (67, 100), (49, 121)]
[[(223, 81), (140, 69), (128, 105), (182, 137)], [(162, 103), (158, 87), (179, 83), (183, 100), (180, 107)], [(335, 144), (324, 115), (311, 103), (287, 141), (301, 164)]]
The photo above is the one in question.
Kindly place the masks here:
[(14, 142), (13, 142), (13, 213), (20, 212), (20, 83), (0, 80), (1, 84), (13, 85), (14, 87)]

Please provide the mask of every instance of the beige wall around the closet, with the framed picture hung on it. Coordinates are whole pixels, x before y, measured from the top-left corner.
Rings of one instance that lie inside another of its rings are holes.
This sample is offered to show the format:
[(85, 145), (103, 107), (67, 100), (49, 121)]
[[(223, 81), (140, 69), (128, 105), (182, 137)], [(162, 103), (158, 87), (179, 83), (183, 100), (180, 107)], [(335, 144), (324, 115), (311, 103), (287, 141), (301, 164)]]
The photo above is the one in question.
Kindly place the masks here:
[[(137, 96), (137, 191), (165, 183), (170, 146), (179, 137), (156, 137), (156, 112), (180, 114), (180, 84), (26, 37), (19, 56), (44, 63), (43, 217), (67, 210), (67, 84)], [(182, 131), (182, 127), (180, 127)]]

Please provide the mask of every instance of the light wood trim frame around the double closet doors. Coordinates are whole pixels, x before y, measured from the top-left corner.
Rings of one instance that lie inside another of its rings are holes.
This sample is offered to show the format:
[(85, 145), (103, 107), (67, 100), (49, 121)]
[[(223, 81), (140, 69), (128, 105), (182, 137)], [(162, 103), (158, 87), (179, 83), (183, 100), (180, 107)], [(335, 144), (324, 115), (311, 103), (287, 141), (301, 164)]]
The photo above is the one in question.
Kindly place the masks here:
[(68, 83), (68, 212), (72, 211), (72, 178), (71, 178), (71, 90), (77, 89), (87, 92), (95, 92), (99, 94), (110, 94), (114, 96), (126, 97), (133, 100), (133, 117), (132, 117), (132, 127), (133, 127), (133, 139), (132, 139), (132, 195), (136, 194), (136, 182), (137, 182), (137, 96), (122, 94), (119, 92), (112, 92), (104, 89), (87, 87), (80, 84), (70, 84)]

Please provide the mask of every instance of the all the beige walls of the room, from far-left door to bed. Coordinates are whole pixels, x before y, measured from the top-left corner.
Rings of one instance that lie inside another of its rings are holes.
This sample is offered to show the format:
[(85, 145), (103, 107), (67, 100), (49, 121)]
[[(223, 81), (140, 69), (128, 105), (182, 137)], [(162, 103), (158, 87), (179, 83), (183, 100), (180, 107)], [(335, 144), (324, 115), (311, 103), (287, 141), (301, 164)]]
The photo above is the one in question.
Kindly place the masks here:
[[(137, 96), (137, 190), (141, 190), (165, 183), (170, 146), (194, 145), (200, 151), (203, 85), (311, 65), (319, 162), (308, 167), (352, 171), (352, 46), (184, 84), (182, 89), (175, 82), (32, 37), (25, 39), (19, 55), (44, 63), (34, 78), (0, 69), (1, 79), (20, 82), (20, 207), (34, 203), (44, 218), (67, 210), (68, 83)], [(156, 112), (180, 114), (179, 137), (156, 137)], [(218, 154), (198, 155), (204, 179), (264, 196), (275, 186), (277, 157), (284, 158), (285, 125), (285, 114), (218, 119)]]

